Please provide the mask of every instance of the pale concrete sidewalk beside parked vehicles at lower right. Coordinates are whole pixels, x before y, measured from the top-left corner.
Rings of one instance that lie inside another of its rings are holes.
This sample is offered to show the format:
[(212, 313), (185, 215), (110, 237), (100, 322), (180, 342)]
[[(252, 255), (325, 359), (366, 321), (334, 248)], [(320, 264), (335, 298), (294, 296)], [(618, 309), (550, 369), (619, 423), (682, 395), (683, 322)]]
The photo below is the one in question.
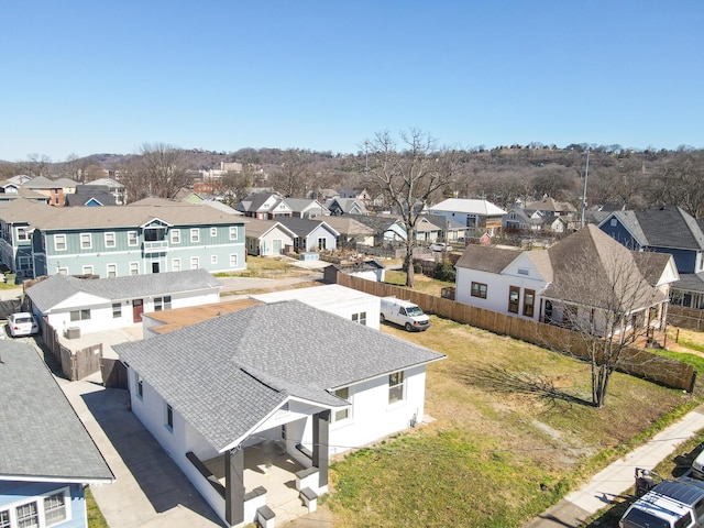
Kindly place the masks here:
[(652, 470), (700, 429), (704, 429), (704, 406), (697, 407), (680, 421), (594, 475), (591, 482), (566, 495), (524, 528), (582, 526), (588, 517), (609, 506), (634, 485), (636, 468)]

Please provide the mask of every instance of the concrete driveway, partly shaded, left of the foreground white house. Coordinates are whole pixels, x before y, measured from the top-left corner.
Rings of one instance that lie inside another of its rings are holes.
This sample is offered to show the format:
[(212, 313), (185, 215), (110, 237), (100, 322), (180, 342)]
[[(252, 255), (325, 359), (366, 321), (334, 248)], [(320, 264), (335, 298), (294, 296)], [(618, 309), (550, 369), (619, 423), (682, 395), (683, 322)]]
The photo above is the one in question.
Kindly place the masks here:
[(130, 410), (127, 391), (98, 378), (57, 382), (116, 475), (91, 486), (108, 525), (120, 528), (224, 526)]

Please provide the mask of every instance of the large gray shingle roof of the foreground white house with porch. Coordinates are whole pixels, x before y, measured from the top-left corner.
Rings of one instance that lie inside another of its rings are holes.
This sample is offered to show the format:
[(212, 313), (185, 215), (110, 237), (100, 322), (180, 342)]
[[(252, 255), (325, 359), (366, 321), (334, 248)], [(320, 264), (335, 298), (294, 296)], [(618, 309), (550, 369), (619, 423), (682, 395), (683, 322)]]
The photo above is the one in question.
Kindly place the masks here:
[(218, 450), (289, 396), (337, 407), (343, 404), (330, 389), (444, 358), (297, 300), (114, 350)]

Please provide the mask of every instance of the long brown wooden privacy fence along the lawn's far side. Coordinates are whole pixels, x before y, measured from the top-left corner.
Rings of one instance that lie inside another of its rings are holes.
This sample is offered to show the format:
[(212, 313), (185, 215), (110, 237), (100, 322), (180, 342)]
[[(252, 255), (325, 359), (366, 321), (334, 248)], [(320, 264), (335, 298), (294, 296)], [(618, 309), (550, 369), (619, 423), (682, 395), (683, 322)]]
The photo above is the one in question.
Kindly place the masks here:
[[(452, 299), (414, 292), (392, 284), (375, 283), (344, 273), (338, 274), (338, 284), (377, 297), (395, 296), (399, 299), (410, 300), (426, 312), (436, 314), (463, 324), (471, 324), (501, 336), (509, 336), (538, 346), (559, 350), (576, 358), (585, 360), (590, 358), (582, 334), (565, 328), (512, 317), (457, 302)], [(626, 348), (622, 352), (618, 371), (688, 392), (693, 391), (696, 380), (692, 365), (636, 348)]]

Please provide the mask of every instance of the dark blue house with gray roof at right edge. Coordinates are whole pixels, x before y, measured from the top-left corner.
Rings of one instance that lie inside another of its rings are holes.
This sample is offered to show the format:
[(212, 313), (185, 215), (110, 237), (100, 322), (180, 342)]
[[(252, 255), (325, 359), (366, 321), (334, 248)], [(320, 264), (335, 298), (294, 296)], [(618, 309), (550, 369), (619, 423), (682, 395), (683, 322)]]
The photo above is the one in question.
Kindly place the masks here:
[(680, 274), (672, 285), (672, 304), (704, 308), (704, 233), (691, 215), (676, 206), (619, 210), (598, 227), (630, 250), (671, 254)]

